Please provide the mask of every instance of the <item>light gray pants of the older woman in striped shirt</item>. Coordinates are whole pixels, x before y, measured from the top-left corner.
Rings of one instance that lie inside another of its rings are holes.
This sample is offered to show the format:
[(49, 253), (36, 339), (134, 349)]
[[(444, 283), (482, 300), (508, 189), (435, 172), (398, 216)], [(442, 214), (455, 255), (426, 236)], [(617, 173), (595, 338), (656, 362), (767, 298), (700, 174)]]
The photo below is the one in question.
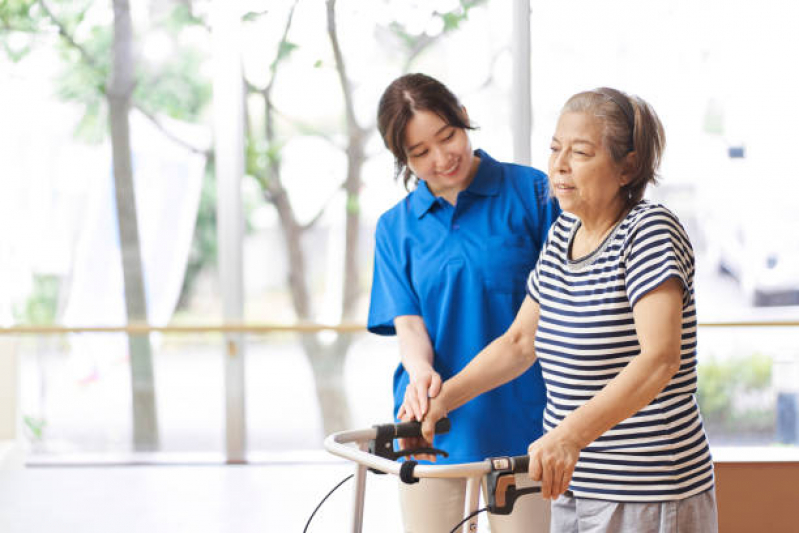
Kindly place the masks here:
[(550, 533), (717, 533), (716, 492), (684, 500), (620, 503), (561, 496)]

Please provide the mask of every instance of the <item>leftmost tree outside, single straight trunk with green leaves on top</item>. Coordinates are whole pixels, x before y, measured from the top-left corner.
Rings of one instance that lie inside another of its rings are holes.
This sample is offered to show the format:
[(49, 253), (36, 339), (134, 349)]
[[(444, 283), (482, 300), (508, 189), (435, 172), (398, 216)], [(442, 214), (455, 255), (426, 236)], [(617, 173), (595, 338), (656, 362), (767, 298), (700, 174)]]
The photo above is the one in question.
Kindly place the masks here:
[[(91, 2), (79, 5), (62, 2), (59, 3), (60, 9), (56, 11), (45, 0), (6, 2), (0, 6), (4, 35), (17, 32), (28, 34), (32, 39), (31, 44), (21, 50), (13, 49), (6, 39), (3, 39), (3, 45), (9, 57), (20, 60), (33, 48), (37, 38), (52, 31), (57, 32), (63, 55), (69, 65), (67, 74), (61, 81), (61, 94), (66, 99), (80, 101), (86, 106), (81, 123), (84, 133), (86, 129), (91, 129), (87, 125), (98, 123), (98, 117), (103, 114), (103, 104), (105, 105), (108, 113), (106, 127), (111, 136), (127, 319), (129, 322), (147, 323), (130, 146), (129, 114), (137, 88), (130, 5), (128, 0), (114, 0), (113, 28), (109, 31), (109, 28), (103, 26), (91, 27), (86, 41), (79, 42), (75, 37), (76, 29), (83, 29), (86, 25), (86, 13), (91, 7)], [(157, 87), (157, 84), (148, 84), (148, 90), (153, 91), (154, 86)], [(153, 93), (157, 94), (157, 91)], [(136, 107), (159, 126), (161, 131), (182, 143), (161, 127), (146, 105), (138, 104)], [(204, 153), (201, 149), (182, 144)], [(131, 361), (133, 445), (138, 451), (155, 450), (159, 446), (159, 432), (149, 336), (129, 335), (128, 348)]]

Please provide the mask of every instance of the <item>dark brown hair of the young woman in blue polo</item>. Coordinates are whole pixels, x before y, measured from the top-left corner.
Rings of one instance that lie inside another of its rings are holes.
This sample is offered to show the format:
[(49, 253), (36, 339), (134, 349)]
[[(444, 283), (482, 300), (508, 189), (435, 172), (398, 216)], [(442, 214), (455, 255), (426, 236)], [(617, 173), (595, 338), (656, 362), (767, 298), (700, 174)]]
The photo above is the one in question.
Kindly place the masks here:
[(391, 82), (377, 106), (377, 128), (386, 148), (394, 155), (394, 178), (402, 174), (406, 190), (412, 178), (413, 185), (419, 182), (408, 168), (408, 154), (405, 152), (405, 130), (418, 111), (435, 113), (456, 128), (474, 129), (455, 95), (435, 78), (425, 74), (406, 74)]

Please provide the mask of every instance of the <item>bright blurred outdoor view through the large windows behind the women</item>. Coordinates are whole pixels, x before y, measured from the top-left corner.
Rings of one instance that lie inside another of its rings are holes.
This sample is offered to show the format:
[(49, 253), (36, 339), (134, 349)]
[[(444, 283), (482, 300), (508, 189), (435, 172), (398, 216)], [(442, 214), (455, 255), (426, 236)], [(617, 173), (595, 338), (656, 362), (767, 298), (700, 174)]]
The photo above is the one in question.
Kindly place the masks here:
[[(377, 101), (405, 72), (435, 76), (479, 126), (473, 145), (512, 160), (511, 2), (236, 4), (253, 327), (236, 333), (232, 391), (213, 2), (132, 1), (128, 33), (118, 4), (0, 0), (0, 325), (33, 328), (6, 331), (0, 355), (19, 361), (26, 461), (224, 461), (231, 395), (249, 461), (315, 457), (332, 431), (388, 421), (396, 341), (359, 327), (377, 218), (405, 194)], [(533, 166), (575, 92), (654, 106), (667, 149), (649, 196), (696, 251), (711, 445), (796, 446), (799, 6), (530, 5)], [(163, 329), (91, 331), (129, 322)]]

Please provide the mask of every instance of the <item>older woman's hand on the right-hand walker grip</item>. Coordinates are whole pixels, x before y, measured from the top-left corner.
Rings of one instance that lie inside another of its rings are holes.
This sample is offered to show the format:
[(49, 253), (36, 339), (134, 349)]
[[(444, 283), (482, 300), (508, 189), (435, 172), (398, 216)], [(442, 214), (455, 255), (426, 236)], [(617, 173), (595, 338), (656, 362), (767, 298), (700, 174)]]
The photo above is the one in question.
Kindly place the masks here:
[(528, 446), (530, 477), (541, 482), (541, 496), (554, 500), (569, 488), (580, 447), (555, 428)]

